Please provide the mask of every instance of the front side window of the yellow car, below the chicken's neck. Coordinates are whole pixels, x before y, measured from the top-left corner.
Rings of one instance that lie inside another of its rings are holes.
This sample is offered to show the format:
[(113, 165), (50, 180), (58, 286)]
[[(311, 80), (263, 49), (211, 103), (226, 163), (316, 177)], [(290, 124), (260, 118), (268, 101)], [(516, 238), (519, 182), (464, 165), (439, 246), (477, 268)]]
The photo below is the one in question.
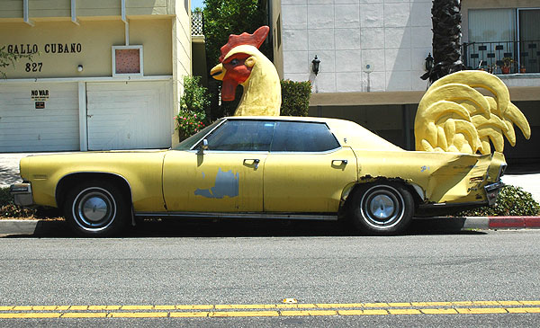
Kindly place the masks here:
[(269, 151), (275, 122), (227, 120), (207, 137), (208, 150)]

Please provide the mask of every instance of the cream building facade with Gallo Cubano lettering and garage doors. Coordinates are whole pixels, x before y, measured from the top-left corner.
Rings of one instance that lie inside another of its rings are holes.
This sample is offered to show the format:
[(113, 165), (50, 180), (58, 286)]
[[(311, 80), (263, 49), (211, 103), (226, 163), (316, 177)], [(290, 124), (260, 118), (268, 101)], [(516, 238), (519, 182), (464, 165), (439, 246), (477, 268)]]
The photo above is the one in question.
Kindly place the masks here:
[(0, 152), (168, 147), (192, 73), (190, 2), (3, 0)]

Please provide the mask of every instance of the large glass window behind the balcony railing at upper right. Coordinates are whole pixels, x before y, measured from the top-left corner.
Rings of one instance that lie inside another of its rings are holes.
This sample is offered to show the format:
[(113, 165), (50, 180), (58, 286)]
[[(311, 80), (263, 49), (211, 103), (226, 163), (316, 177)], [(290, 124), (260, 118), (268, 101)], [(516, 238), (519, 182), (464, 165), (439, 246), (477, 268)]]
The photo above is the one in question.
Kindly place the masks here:
[(503, 66), (509, 66), (509, 73), (540, 72), (539, 21), (540, 8), (470, 10), (465, 65), (494, 73)]

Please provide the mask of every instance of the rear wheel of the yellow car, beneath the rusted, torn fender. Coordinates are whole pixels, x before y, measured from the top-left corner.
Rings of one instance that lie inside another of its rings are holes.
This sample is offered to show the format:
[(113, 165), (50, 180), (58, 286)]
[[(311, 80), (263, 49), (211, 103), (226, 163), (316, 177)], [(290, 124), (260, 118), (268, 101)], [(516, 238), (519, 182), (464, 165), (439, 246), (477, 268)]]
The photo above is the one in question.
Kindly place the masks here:
[(394, 182), (359, 186), (349, 205), (353, 226), (369, 235), (401, 234), (414, 215), (412, 195)]

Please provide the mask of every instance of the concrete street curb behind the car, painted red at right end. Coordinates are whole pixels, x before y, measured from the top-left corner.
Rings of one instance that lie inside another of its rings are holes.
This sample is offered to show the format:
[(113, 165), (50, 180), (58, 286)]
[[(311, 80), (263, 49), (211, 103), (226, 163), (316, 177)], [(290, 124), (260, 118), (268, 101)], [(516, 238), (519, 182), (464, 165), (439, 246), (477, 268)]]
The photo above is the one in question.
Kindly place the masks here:
[[(413, 226), (436, 231), (538, 229), (540, 217), (419, 217)], [(66, 221), (0, 220), (0, 235), (71, 235)]]

